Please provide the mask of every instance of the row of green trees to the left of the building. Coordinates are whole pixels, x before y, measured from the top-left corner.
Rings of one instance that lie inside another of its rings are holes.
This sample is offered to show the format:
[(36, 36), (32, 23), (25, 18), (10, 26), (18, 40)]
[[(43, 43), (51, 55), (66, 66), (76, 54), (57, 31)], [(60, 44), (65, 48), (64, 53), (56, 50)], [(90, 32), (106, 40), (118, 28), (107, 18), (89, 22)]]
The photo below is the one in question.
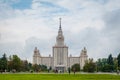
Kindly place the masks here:
[(0, 58), (0, 72), (38, 72), (46, 71), (47, 66), (29, 63), (27, 60), (21, 60), (17, 55), (7, 58), (6, 54)]

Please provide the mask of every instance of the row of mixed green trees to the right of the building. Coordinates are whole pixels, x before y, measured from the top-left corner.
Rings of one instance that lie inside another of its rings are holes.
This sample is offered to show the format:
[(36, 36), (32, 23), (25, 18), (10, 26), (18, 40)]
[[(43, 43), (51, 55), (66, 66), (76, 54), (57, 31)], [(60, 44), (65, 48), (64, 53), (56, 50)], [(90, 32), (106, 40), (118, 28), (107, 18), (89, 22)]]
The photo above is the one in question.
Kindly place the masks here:
[(112, 57), (112, 54), (108, 58), (99, 58), (96, 62), (93, 59), (86, 61), (84, 72), (117, 72), (120, 71), (120, 53), (117, 57)]

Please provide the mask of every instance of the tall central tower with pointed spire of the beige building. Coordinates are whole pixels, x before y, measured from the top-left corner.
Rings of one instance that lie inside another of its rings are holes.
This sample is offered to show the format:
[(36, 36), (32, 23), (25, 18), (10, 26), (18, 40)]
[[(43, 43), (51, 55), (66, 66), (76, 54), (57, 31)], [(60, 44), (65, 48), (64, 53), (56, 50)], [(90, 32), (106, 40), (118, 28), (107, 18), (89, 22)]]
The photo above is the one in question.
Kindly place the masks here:
[(53, 46), (53, 68), (65, 71), (67, 70), (68, 47), (64, 44), (64, 36), (61, 27), (61, 18), (59, 19), (59, 30), (56, 37), (56, 45)]

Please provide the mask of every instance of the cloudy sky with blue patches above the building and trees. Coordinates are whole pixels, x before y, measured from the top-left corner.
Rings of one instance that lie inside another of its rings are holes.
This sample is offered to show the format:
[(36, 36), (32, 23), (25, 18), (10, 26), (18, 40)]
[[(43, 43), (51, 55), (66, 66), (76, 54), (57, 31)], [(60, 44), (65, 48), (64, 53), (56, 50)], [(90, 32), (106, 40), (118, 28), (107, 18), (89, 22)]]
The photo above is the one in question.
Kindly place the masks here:
[(34, 48), (52, 55), (62, 18), (69, 55), (116, 57), (120, 53), (120, 0), (0, 0), (0, 56), (32, 62)]

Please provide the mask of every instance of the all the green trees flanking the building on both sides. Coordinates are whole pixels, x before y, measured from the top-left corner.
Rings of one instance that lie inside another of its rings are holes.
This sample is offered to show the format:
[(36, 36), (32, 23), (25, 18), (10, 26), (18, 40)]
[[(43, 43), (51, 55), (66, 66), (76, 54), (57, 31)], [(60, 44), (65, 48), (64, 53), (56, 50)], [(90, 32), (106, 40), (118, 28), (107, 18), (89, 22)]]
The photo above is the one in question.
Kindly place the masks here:
[[(117, 72), (120, 71), (120, 53), (117, 57), (112, 57), (112, 54), (108, 58), (99, 58), (96, 62), (93, 59), (88, 59), (85, 61), (83, 70), (80, 69), (79, 64), (74, 64), (69, 68), (74, 71), (84, 71), (84, 72)], [(0, 58), (0, 72), (40, 72), (48, 71), (49, 69), (46, 65), (38, 65), (29, 63), (27, 60), (21, 60), (17, 55), (11, 55), (7, 58), (6, 54)]]

